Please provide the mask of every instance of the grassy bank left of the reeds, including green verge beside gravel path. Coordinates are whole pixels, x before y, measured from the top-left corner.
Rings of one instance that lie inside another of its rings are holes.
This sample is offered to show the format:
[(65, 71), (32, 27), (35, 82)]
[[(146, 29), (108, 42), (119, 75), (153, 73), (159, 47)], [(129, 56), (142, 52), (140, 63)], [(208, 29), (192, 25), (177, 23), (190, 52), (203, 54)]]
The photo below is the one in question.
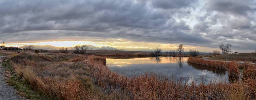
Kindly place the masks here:
[(25, 52), (9, 56), (3, 62), (8, 79), (18, 93), (28, 99), (98, 100), (110, 99), (108, 93), (93, 84), (85, 56), (61, 53)]

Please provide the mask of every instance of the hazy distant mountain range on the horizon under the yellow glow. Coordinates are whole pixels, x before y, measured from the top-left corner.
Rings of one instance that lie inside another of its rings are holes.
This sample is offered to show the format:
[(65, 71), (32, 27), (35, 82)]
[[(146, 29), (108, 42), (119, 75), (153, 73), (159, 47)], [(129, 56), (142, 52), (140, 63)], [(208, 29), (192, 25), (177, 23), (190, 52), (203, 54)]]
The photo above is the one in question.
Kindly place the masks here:
[[(20, 46), (18, 48), (26, 48), (27, 45), (24, 45), (24, 46)], [(52, 46), (52, 45), (33, 45), (35, 48), (34, 49), (47, 49), (47, 50), (58, 50), (59, 48), (61, 47), (55, 47), (55, 46)], [(118, 50), (116, 48), (113, 48), (113, 47), (95, 47), (93, 45), (87, 45), (89, 49), (92, 49), (92, 50)], [(70, 49), (72, 49), (72, 47), (70, 47)]]

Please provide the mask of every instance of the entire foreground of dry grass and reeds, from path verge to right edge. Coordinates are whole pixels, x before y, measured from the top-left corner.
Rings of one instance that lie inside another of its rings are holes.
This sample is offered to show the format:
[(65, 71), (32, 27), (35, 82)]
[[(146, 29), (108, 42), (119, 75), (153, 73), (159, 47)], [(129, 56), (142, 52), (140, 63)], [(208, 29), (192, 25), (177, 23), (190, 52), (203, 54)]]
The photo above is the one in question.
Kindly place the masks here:
[(205, 85), (184, 82), (182, 78), (168, 79), (156, 73), (129, 78), (110, 71), (105, 66), (106, 59), (97, 56), (21, 53), (13, 55), (10, 62), (23, 84), (29, 84), (33, 91), (43, 94), (48, 99), (238, 100), (256, 97), (256, 80), (249, 77), (255, 71), (250, 69), (252, 67), (246, 69), (251, 74), (244, 75), (243, 82)]

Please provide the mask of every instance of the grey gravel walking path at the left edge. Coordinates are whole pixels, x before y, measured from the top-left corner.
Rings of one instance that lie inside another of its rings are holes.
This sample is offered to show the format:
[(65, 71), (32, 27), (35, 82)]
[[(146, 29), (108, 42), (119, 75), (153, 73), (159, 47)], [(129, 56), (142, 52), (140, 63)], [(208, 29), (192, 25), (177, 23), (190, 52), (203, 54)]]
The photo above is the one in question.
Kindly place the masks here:
[(0, 100), (27, 100), (16, 94), (16, 90), (6, 84), (5, 71), (1, 65), (2, 57), (4, 56), (0, 56)]

